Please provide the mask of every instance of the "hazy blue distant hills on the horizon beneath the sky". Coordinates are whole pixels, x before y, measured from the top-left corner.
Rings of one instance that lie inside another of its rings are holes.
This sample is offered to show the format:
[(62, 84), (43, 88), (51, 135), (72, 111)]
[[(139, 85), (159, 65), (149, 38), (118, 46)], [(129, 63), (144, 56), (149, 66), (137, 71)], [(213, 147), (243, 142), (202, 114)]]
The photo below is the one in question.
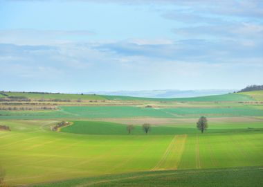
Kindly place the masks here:
[(90, 91), (83, 94), (97, 94), (109, 96), (134, 96), (147, 98), (188, 98), (197, 96), (212, 96), (228, 94), (237, 91), (235, 89), (201, 89), (201, 90), (143, 90), (143, 91)]

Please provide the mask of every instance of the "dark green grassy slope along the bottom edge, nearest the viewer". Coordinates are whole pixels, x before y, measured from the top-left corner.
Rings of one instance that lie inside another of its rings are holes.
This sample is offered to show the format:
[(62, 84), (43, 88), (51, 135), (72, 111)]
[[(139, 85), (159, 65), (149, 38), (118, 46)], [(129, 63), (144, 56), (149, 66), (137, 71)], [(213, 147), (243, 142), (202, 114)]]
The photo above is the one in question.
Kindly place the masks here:
[(39, 184), (35, 187), (260, 187), (263, 184), (262, 167), (226, 168), (207, 170), (169, 170), (155, 172), (135, 172), (123, 175), (109, 175), (103, 177), (57, 181), (50, 184)]

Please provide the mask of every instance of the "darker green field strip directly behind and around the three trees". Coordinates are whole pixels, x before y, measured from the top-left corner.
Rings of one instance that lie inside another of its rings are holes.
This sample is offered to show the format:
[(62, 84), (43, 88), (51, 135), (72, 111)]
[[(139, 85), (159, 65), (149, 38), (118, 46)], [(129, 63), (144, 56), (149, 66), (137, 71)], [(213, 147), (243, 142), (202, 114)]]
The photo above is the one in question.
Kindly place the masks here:
[[(209, 120), (209, 119), (208, 119)], [(103, 121), (73, 121), (73, 125), (63, 127), (61, 132), (75, 134), (125, 135), (128, 134), (127, 125)], [(263, 122), (253, 123), (212, 123), (206, 134), (226, 132), (253, 132), (263, 130)], [(152, 125), (150, 135), (196, 134), (195, 124)], [(131, 135), (145, 134), (141, 125), (134, 125)]]

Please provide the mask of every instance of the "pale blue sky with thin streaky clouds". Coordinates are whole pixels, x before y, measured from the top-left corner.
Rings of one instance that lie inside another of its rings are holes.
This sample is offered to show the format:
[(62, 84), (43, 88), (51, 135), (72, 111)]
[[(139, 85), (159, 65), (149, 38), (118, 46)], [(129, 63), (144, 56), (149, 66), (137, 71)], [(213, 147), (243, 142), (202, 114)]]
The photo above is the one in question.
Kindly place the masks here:
[(0, 90), (263, 84), (261, 0), (0, 0)]

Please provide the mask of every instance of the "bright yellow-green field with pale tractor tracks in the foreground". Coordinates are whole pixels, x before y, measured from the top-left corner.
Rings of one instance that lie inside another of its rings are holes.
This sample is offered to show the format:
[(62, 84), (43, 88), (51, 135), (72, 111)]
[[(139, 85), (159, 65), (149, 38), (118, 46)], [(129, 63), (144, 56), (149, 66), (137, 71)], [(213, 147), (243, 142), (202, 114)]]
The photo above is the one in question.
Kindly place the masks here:
[[(205, 134), (197, 130), (191, 133), (194, 125), (181, 124), (181, 128), (185, 125), (181, 130), (185, 135), (165, 135), (161, 127), (156, 127), (159, 135), (152, 129), (149, 136), (51, 132), (49, 126), (53, 123), (56, 121), (1, 121), (12, 130), (0, 132), (0, 164), (6, 170), (6, 184), (27, 185), (147, 170), (263, 166), (262, 123), (233, 123), (230, 128), (227, 123), (218, 124), (219, 127), (214, 124), (211, 130), (225, 132)], [(116, 127), (114, 123), (108, 125)], [(237, 132), (228, 131), (234, 126)], [(259, 129), (238, 131), (247, 127)]]

